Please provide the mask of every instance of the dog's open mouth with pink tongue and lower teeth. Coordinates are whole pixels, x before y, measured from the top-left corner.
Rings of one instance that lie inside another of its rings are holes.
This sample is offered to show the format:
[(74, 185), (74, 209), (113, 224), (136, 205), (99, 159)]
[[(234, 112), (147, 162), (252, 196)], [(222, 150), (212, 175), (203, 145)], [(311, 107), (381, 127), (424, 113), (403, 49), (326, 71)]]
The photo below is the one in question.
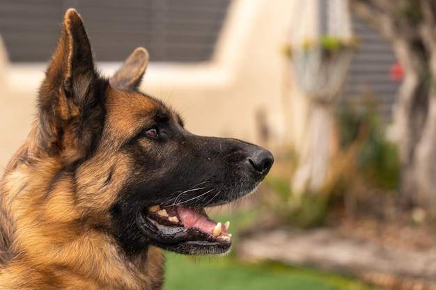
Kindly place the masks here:
[(143, 210), (138, 224), (142, 232), (166, 246), (163, 248), (214, 248), (226, 252), (231, 246), (230, 222), (217, 223), (205, 209), (155, 205)]

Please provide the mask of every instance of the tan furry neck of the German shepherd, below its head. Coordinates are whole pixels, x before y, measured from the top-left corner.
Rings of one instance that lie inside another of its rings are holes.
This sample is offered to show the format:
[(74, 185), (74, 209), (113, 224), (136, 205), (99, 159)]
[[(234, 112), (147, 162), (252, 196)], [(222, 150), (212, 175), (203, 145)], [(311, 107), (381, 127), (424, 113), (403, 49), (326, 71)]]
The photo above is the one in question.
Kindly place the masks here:
[[(36, 168), (16, 160), (0, 182), (4, 238), (0, 250), (8, 265), (0, 266), (1, 289), (25, 288), (20, 285), (24, 276), (26, 285), (36, 285), (33, 289), (54, 285), (59, 289), (162, 289), (162, 250), (150, 245), (139, 255), (125, 255), (114, 236), (84, 226), (83, 216), (74, 207), (73, 177), (63, 175), (59, 184), (51, 185), (59, 194), (45, 194), (49, 191), (41, 188), (50, 186), (45, 180), (52, 176), (36, 178)], [(42, 205), (37, 207), (38, 202)], [(29, 209), (22, 204), (29, 204)], [(54, 216), (56, 210), (64, 214)]]

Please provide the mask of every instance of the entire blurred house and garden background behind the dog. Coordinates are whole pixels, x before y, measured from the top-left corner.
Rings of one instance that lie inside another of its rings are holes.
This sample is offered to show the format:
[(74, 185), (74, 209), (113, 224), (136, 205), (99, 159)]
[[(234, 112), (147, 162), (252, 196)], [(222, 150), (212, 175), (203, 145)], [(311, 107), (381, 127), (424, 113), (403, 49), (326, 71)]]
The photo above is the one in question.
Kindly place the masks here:
[(0, 0), (0, 173), (71, 7), (102, 74), (146, 47), (141, 89), (189, 131), (274, 154), (212, 209), (231, 255), (169, 254), (166, 289), (436, 289), (436, 3)]

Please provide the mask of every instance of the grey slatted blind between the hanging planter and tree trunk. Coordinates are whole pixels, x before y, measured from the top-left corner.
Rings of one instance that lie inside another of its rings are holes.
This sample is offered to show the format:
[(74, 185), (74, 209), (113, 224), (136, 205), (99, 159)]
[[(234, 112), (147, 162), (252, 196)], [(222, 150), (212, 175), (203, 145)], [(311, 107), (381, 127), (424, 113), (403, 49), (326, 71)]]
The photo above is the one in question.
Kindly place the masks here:
[[(361, 40), (345, 83), (345, 99), (373, 95), (385, 120), (391, 120), (399, 83), (391, 81), (389, 70), (396, 58), (387, 40), (357, 17), (352, 17), (355, 34)], [(342, 99), (342, 102), (344, 99)]]

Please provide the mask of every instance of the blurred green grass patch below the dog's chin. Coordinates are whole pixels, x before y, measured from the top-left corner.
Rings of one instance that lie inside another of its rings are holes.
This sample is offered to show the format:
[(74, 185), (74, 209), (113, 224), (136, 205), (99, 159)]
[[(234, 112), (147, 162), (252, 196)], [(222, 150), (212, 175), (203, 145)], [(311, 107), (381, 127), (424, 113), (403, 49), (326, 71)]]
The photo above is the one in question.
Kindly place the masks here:
[(166, 255), (164, 290), (371, 290), (354, 280), (280, 264), (244, 264), (233, 257)]

